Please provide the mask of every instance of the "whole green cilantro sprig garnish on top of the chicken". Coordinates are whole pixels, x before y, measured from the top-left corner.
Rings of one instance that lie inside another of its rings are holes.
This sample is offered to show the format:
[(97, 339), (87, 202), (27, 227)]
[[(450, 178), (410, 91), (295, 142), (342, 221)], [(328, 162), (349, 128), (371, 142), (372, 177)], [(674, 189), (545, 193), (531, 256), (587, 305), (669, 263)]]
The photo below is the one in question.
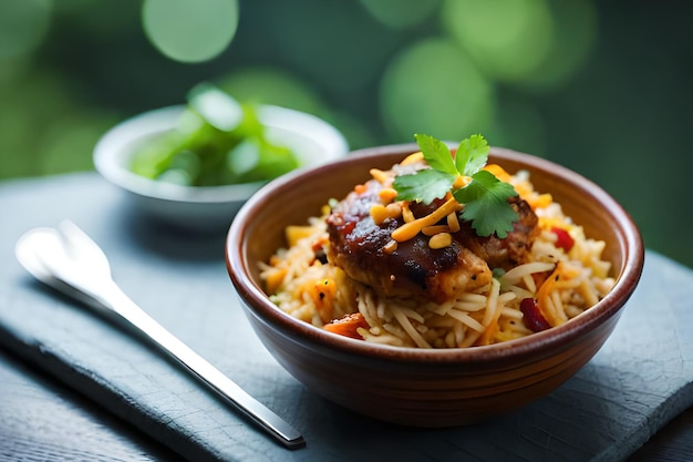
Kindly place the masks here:
[[(489, 151), (484, 136), (472, 135), (463, 140), (455, 156), (445, 143), (433, 136), (416, 134), (414, 137), (431, 168), (395, 177), (396, 199), (431, 204), (452, 192), (455, 199), (464, 204), (459, 217), (472, 222), (477, 235), (485, 237), (495, 233), (501, 239), (507, 237), (513, 230), (513, 223), (518, 219), (517, 212), (508, 204), (508, 197), (517, 193), (508, 183), (482, 170)], [(472, 181), (464, 187), (455, 188), (458, 176), (468, 176)]]

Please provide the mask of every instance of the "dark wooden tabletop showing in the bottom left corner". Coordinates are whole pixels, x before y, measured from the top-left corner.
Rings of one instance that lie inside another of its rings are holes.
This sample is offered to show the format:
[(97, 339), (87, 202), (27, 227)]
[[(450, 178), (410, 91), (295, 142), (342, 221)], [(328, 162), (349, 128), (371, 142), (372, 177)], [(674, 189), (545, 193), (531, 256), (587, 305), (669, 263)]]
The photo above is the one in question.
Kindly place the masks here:
[(0, 397), (0, 461), (184, 461), (3, 348)]

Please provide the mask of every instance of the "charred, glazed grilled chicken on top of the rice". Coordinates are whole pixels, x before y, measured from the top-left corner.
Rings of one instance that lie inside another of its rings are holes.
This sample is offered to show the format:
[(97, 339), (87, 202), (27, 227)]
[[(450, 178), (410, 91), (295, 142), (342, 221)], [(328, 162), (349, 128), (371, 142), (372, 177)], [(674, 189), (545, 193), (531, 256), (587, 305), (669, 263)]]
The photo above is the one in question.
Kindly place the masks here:
[[(371, 179), (332, 209), (327, 220), (328, 260), (387, 297), (442, 302), (483, 287), (490, 281), (493, 268), (509, 269), (524, 261), (536, 232), (536, 215), (527, 203), (515, 197), (511, 206), (520, 218), (506, 239), (478, 237), (468, 223), (461, 222), (461, 230), (453, 234), (447, 247), (432, 249), (430, 237), (418, 234), (387, 251), (392, 232), (404, 222), (397, 217), (376, 225), (370, 216), (371, 206), (381, 204), (382, 187), (379, 181)], [(412, 212), (420, 217), (438, 205), (412, 204)]]

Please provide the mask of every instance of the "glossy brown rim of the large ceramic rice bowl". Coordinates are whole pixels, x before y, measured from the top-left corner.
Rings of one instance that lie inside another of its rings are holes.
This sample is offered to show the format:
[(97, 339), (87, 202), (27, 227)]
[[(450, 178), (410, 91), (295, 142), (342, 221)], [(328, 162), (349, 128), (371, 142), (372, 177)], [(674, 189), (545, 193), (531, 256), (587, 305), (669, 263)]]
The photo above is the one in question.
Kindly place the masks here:
[[(250, 219), (258, 207), (267, 203), (277, 191), (290, 187), (302, 182), (304, 175), (320, 175), (324, 172), (335, 172), (340, 166), (362, 158), (380, 155), (401, 155), (420, 151), (415, 143), (391, 144), (366, 147), (349, 154), (346, 157), (310, 168), (309, 172), (296, 171), (273, 179), (255, 194), (238, 212), (230, 225), (226, 238), (225, 257), (230, 279), (245, 305), (252, 304), (247, 311), (262, 322), (271, 324), (285, 336), (301, 338), (323, 348), (339, 350), (343, 353), (358, 355), (373, 359), (432, 362), (432, 363), (487, 363), (506, 361), (527, 357), (538, 357), (550, 353), (552, 348), (570, 345), (598, 325), (603, 324), (614, 315), (620, 315), (621, 308), (632, 295), (644, 266), (644, 246), (639, 229), (625, 209), (603, 188), (586, 178), (581, 174), (542, 157), (520, 153), (505, 147), (492, 147), (492, 155), (499, 160), (507, 158), (515, 162), (530, 161), (532, 170), (555, 172), (559, 176), (575, 183), (587, 194), (594, 197), (618, 223), (620, 240), (623, 243), (623, 266), (616, 275), (614, 287), (597, 305), (570, 319), (568, 322), (551, 329), (535, 332), (519, 339), (508, 340), (489, 346), (453, 349), (421, 349), (412, 347), (393, 347), (365, 342), (325, 331), (309, 322), (293, 318), (272, 304), (262, 288), (257, 286), (249, 275), (249, 263), (244, 253), (247, 240), (245, 223)], [(364, 172), (368, 174), (368, 172)], [(250, 301), (247, 301), (250, 300)]]

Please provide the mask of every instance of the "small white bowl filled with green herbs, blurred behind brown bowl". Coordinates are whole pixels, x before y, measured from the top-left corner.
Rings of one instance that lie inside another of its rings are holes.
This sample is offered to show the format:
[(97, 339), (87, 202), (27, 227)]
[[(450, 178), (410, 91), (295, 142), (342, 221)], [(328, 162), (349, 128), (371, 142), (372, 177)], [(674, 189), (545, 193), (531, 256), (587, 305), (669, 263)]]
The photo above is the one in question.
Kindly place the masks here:
[(186, 105), (145, 112), (111, 129), (94, 148), (94, 165), (127, 193), (136, 212), (218, 233), (267, 182), (348, 152), (343, 135), (319, 117), (240, 104), (203, 84)]

